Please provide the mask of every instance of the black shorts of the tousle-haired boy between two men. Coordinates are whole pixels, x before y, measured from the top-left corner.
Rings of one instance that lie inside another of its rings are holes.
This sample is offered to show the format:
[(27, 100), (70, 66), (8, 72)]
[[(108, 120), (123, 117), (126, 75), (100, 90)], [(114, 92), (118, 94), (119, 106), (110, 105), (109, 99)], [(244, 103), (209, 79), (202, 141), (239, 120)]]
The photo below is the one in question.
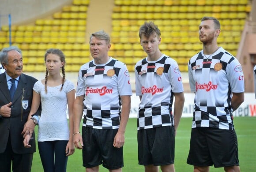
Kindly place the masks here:
[(138, 130), (139, 165), (174, 164), (174, 127)]

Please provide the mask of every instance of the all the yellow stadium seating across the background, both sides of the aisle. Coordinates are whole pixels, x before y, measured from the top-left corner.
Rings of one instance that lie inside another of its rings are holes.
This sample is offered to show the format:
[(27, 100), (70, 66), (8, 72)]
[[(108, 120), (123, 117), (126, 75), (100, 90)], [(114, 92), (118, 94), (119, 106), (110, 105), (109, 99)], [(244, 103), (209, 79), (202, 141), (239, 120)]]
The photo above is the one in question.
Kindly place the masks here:
[[(250, 0), (113, 0), (111, 12), (112, 47), (109, 55), (127, 64), (134, 71), (135, 63), (146, 56), (139, 44), (138, 30), (145, 21), (153, 21), (162, 31), (160, 49), (177, 60), (182, 72), (187, 71), (189, 57), (202, 49), (198, 25), (203, 16), (220, 20), (222, 32), (219, 46), (233, 55), (241, 40)], [(38, 18), (34, 25), (11, 26), (13, 45), (23, 50), (27, 71), (45, 71), (41, 60), (47, 48), (60, 48), (67, 56), (66, 71), (78, 71), (90, 60), (85, 44), (87, 9), (90, 0), (73, 0), (47, 18)], [(8, 47), (9, 28), (0, 30), (0, 48)], [(40, 60), (39, 60), (40, 59)], [(83, 60), (81, 60), (83, 59)], [(31, 66), (31, 67), (30, 67)]]

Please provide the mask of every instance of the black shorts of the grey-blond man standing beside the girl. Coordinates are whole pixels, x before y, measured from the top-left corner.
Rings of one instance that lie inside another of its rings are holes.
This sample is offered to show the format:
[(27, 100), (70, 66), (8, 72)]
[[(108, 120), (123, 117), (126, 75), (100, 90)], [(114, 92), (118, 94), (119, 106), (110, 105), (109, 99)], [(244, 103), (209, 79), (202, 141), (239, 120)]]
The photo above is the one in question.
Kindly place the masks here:
[(86, 168), (103, 165), (107, 169), (124, 167), (123, 147), (113, 146), (118, 129), (82, 128), (83, 166)]

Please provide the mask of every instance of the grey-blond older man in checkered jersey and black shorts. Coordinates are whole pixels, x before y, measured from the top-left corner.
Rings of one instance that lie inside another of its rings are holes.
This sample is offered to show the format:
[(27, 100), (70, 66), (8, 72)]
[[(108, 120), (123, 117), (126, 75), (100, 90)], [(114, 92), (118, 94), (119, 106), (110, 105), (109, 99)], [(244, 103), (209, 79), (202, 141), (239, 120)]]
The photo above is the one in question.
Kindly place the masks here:
[(74, 144), (83, 149), (83, 166), (87, 172), (98, 172), (102, 163), (110, 172), (121, 172), (124, 166), (124, 132), (132, 88), (126, 65), (109, 57), (110, 46), (109, 35), (104, 31), (91, 34), (93, 60), (79, 70), (74, 102)]

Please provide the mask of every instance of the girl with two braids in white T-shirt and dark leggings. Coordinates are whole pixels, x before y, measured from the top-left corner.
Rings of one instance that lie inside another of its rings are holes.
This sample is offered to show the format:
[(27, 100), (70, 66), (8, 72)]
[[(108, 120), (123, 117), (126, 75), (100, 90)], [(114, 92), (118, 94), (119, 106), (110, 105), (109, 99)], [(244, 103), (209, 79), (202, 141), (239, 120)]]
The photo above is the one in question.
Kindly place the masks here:
[[(36, 82), (33, 88), (33, 102), (29, 118), (37, 118), (33, 114), (41, 102), (38, 149), (45, 172), (66, 172), (68, 156), (75, 151), (72, 141), (75, 86), (71, 81), (65, 79), (64, 64), (65, 56), (61, 50), (47, 50), (45, 53), (45, 79)], [(67, 105), (69, 127), (66, 114)], [(31, 134), (25, 136), (23, 141), (25, 147), (30, 147)]]

